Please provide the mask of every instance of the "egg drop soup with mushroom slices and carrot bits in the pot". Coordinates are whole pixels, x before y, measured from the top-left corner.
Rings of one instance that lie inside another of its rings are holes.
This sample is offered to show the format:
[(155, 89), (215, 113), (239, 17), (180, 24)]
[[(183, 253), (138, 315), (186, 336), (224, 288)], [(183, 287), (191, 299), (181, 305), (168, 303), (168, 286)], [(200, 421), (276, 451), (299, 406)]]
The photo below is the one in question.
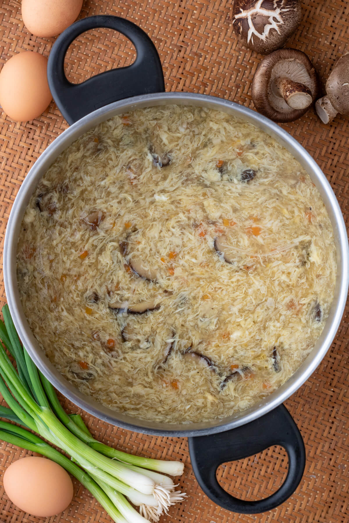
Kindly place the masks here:
[(30, 328), (94, 400), (140, 419), (204, 422), (292, 376), (327, 320), (328, 213), (307, 172), (226, 113), (162, 106), (70, 145), (18, 241)]

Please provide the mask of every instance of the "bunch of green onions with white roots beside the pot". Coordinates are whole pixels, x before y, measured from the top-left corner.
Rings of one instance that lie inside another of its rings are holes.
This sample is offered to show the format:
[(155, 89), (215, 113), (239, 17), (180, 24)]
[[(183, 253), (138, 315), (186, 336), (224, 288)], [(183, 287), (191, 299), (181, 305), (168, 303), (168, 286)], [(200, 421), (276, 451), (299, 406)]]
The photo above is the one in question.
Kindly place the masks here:
[[(183, 463), (131, 456), (94, 439), (79, 414), (66, 414), (53, 386), (21, 346), (7, 305), (2, 312), (5, 324), (0, 320), (0, 338), (16, 360), (17, 371), (0, 344), (0, 393), (8, 405), (0, 406), (0, 417), (17, 425), (0, 420), (0, 438), (62, 465), (117, 523), (158, 521), (168, 507), (183, 501), (185, 494), (175, 492), (171, 478), (159, 474), (182, 474)], [(71, 460), (18, 425), (40, 434)], [(140, 513), (125, 496), (140, 507)]]

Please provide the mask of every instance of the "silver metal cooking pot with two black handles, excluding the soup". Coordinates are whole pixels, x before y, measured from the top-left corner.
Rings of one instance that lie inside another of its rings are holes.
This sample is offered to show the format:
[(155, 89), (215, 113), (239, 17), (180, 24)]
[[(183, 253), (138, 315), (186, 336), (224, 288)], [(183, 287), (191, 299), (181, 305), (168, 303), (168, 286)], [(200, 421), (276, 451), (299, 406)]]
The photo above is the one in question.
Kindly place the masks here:
[[(128, 67), (99, 74), (82, 84), (71, 84), (64, 74), (65, 53), (78, 35), (97, 27), (115, 29), (129, 38), (137, 51), (136, 61)], [(327, 353), (339, 327), (346, 301), (347, 236), (342, 213), (330, 184), (305, 149), (271, 120), (231, 101), (213, 96), (164, 93), (159, 55), (149, 37), (130, 21), (112, 16), (94, 16), (75, 22), (52, 47), (48, 78), (53, 98), (71, 127), (51, 143), (30, 169), (8, 220), (4, 249), (5, 289), (9, 309), (22, 342), (37, 367), (51, 383), (85, 411), (113, 425), (141, 433), (187, 436), (197, 480), (202, 490), (217, 504), (228, 510), (247, 514), (276, 507), (294, 492), (305, 467), (302, 437), (282, 402), (309, 378)], [(20, 303), (16, 278), (16, 249), (22, 217), (40, 178), (57, 156), (84, 132), (108, 118), (142, 107), (167, 104), (205, 106), (226, 112), (254, 124), (284, 145), (307, 170), (317, 186), (331, 219), (337, 248), (337, 279), (328, 320), (316, 346), (293, 376), (271, 395), (243, 412), (211, 422), (183, 425), (154, 423), (115, 412), (84, 395), (63, 378), (45, 356), (29, 328)], [(287, 477), (277, 492), (258, 501), (242, 501), (220, 487), (216, 470), (221, 463), (251, 456), (273, 445), (281, 445), (288, 454)]]

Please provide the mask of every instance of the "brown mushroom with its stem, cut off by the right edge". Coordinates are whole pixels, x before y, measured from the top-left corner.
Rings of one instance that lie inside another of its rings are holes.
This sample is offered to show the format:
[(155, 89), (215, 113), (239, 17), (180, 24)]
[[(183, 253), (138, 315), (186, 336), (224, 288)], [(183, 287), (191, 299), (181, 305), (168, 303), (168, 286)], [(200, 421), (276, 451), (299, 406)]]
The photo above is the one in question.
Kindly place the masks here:
[(326, 82), (326, 93), (315, 106), (321, 120), (329, 123), (337, 113), (349, 116), (349, 52), (335, 63)]

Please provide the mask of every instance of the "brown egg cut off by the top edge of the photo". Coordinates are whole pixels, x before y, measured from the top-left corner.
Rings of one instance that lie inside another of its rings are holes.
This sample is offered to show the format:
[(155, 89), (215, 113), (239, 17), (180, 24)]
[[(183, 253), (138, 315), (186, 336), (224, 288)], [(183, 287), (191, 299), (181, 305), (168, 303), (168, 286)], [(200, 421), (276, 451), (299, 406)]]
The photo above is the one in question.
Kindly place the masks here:
[(22, 19), (33, 35), (59, 35), (81, 11), (83, 0), (22, 0)]

